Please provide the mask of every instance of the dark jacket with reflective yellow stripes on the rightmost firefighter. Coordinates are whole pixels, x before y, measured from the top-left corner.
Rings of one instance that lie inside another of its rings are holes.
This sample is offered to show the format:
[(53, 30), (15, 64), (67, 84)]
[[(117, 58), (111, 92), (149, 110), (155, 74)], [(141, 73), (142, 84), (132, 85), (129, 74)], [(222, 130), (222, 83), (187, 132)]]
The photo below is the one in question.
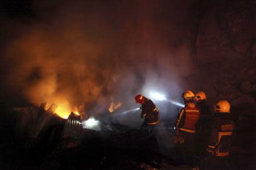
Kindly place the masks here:
[(214, 156), (228, 156), (229, 146), (236, 136), (235, 124), (230, 113), (216, 113), (214, 116), (207, 152)]

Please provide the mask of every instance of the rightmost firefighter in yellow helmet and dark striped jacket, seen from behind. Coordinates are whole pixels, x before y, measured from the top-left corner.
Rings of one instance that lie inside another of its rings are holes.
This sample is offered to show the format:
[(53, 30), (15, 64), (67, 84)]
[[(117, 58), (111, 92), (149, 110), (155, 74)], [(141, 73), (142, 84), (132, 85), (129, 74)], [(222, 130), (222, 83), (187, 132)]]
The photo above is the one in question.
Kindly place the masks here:
[(230, 169), (228, 156), (229, 147), (236, 137), (236, 131), (230, 104), (220, 100), (214, 105), (214, 118), (210, 125), (209, 142), (207, 146), (208, 169)]

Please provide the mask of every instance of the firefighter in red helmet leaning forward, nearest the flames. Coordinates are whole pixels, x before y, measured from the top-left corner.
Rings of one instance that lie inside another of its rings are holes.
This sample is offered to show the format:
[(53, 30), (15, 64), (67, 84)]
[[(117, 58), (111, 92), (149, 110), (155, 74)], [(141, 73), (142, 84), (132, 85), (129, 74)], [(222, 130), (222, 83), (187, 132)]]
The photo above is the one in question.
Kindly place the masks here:
[(155, 106), (152, 100), (144, 97), (143, 95), (135, 96), (135, 103), (141, 104), (141, 118), (145, 118), (141, 126), (142, 129), (146, 129), (148, 134), (152, 134), (152, 130), (155, 125), (160, 121), (160, 114), (158, 108)]

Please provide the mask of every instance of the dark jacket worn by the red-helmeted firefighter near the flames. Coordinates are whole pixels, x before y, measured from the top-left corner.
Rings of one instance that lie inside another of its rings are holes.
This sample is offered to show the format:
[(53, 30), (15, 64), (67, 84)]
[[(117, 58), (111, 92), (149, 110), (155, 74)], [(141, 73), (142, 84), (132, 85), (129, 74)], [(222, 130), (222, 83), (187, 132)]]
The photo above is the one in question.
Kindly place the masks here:
[(156, 108), (152, 100), (145, 98), (141, 108), (141, 118), (145, 117), (144, 122), (147, 125), (158, 124), (160, 121), (160, 114), (158, 112), (158, 108)]

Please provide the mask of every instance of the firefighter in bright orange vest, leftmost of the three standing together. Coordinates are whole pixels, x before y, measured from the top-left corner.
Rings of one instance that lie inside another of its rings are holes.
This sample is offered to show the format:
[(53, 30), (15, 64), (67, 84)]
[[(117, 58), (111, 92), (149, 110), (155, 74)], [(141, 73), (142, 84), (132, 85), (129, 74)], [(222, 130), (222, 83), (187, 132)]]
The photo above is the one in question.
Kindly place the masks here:
[(193, 103), (195, 95), (192, 91), (185, 91), (182, 95), (185, 107), (178, 114), (175, 129), (176, 136), (174, 143), (176, 148), (177, 161), (193, 165), (196, 123), (199, 120), (200, 112)]

